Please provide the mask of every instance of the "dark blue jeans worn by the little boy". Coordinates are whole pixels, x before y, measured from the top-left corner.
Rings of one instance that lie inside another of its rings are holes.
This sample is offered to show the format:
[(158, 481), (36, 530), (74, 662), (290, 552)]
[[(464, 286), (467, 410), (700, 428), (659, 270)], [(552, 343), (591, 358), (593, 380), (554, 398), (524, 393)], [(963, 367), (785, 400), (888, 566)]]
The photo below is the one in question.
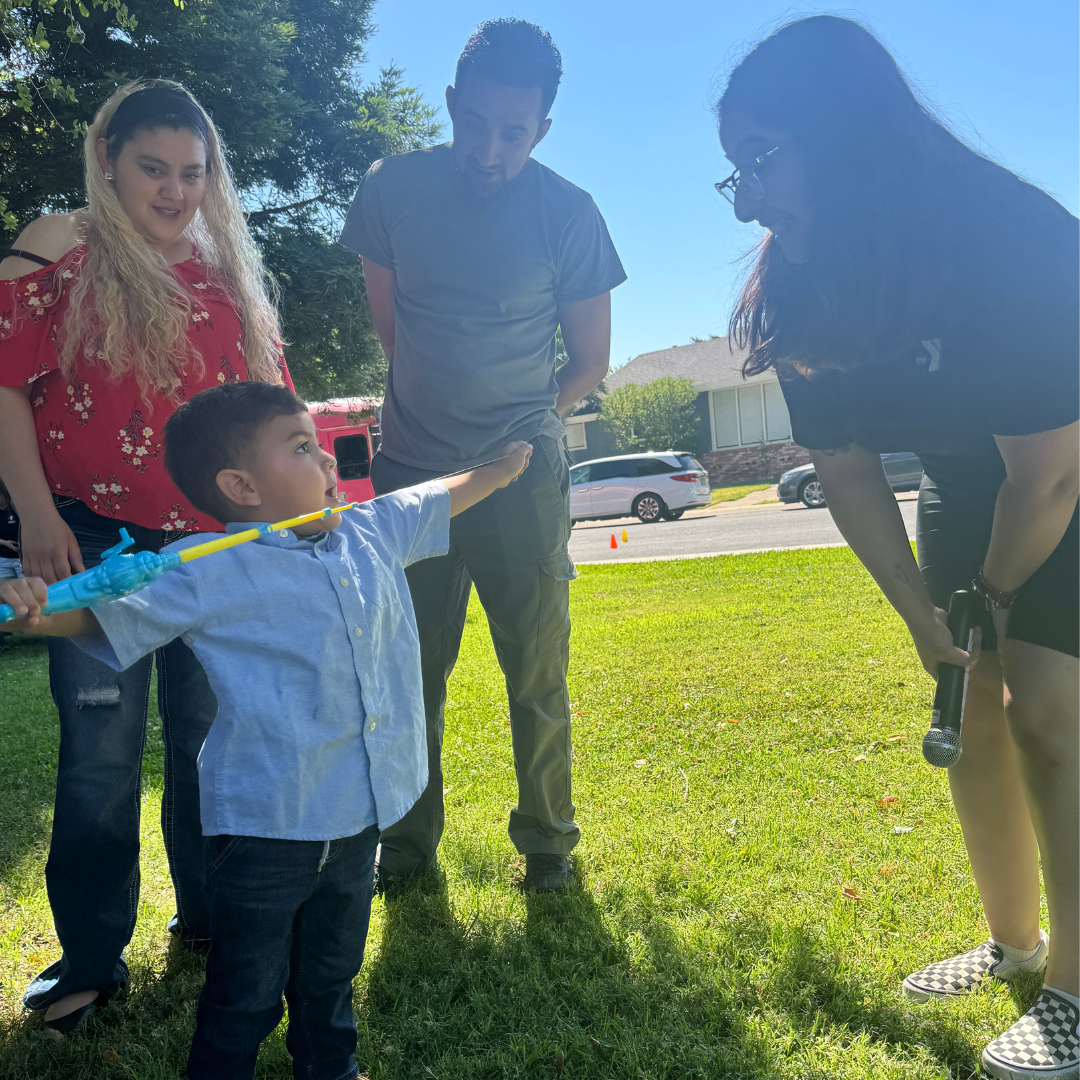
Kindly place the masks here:
[(364, 959), (378, 827), (341, 840), (208, 836), (206, 985), (188, 1080), (249, 1080), (288, 1002), (297, 1080), (355, 1077), (352, 981)]

